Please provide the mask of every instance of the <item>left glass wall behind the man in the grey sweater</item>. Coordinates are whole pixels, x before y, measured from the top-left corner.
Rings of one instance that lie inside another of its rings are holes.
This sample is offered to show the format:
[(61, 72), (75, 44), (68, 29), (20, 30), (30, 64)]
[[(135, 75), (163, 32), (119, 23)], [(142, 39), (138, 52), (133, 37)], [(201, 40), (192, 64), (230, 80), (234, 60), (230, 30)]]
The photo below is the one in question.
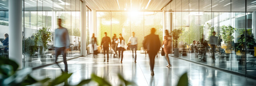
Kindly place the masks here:
[[(80, 0), (24, 0), (23, 67), (55, 61), (53, 44), (59, 18), (62, 27), (68, 30), (70, 40), (67, 59), (81, 55), (81, 7)], [(61, 60), (62, 55), (57, 61)]]

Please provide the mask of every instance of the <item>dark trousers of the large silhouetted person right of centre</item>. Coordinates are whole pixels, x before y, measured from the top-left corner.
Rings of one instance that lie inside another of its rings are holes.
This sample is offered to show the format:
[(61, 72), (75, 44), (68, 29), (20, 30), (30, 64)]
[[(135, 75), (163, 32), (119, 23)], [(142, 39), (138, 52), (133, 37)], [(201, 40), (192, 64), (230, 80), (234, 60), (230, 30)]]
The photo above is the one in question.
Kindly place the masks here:
[(147, 51), (147, 52), (148, 52), (148, 56), (150, 57), (150, 71), (153, 72), (154, 65), (155, 65), (155, 57), (157, 52), (156, 51)]

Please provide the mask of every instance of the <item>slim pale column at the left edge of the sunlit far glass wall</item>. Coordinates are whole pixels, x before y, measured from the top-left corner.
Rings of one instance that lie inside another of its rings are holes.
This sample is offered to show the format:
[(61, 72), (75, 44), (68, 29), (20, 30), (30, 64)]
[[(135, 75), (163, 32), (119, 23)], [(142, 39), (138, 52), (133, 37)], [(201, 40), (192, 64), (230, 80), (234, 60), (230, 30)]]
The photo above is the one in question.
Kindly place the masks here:
[(95, 34), (95, 37), (97, 37), (97, 14), (96, 9), (91, 9), (91, 33)]

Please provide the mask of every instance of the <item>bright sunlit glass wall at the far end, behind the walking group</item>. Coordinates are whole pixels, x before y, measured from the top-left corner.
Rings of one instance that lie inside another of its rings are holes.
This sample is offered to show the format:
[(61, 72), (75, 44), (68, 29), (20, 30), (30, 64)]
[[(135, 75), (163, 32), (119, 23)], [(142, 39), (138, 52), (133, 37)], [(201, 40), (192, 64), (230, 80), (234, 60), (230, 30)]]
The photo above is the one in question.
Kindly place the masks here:
[[(138, 38), (138, 50), (143, 50), (144, 37), (150, 34), (150, 29), (156, 28), (162, 42), (162, 12), (143, 11), (97, 11), (97, 42), (100, 45), (104, 33), (110, 38), (113, 34), (123, 34), (127, 43), (132, 32)], [(126, 47), (125, 47), (126, 48)]]

